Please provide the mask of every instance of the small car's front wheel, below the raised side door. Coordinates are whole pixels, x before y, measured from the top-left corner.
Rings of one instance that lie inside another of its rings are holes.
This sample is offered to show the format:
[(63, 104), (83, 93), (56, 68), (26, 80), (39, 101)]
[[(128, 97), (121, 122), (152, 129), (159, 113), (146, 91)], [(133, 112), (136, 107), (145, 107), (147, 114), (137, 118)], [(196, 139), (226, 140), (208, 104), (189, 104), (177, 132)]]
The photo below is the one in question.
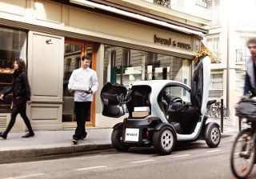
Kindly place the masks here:
[(206, 131), (206, 144), (210, 148), (218, 147), (221, 141), (221, 130), (218, 125), (211, 125)]

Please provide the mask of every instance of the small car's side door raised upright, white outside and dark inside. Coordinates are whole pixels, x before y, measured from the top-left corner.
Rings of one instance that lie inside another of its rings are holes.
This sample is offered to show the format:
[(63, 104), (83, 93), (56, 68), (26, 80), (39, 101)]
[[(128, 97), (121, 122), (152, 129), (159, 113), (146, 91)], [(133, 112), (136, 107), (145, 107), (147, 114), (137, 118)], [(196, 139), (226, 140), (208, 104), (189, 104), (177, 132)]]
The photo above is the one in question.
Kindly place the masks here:
[(206, 56), (198, 63), (194, 70), (191, 82), (191, 102), (195, 109), (204, 115), (208, 101), (209, 83), (210, 83), (210, 58)]

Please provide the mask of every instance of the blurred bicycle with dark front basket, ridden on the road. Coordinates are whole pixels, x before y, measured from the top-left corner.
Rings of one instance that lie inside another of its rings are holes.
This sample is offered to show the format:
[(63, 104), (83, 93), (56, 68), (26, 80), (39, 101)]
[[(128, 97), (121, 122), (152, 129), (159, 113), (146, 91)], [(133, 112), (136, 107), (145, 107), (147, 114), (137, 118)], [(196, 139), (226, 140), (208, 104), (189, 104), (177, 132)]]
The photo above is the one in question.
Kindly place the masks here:
[(238, 111), (236, 115), (248, 127), (242, 129), (235, 138), (230, 163), (235, 177), (246, 178), (250, 175), (256, 161), (256, 116), (251, 113), (239, 113)]

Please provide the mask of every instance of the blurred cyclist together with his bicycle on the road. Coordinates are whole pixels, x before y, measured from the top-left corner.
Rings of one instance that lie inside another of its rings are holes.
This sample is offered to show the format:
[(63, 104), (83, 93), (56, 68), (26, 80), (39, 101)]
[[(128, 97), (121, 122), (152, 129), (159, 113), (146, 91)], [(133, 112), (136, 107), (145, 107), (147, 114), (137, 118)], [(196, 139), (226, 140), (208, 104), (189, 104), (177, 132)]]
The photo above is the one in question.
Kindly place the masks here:
[[(256, 38), (250, 38), (247, 42), (247, 47), (250, 50), (251, 56), (248, 58), (246, 64), (246, 80), (241, 99), (246, 96), (256, 96)], [(243, 123), (248, 125), (247, 128), (242, 129), (238, 133), (231, 151), (230, 163), (232, 173), (238, 178), (248, 177), (255, 163), (256, 116), (254, 106), (254, 103), (244, 101), (236, 109), (236, 115), (239, 118), (243, 117)]]

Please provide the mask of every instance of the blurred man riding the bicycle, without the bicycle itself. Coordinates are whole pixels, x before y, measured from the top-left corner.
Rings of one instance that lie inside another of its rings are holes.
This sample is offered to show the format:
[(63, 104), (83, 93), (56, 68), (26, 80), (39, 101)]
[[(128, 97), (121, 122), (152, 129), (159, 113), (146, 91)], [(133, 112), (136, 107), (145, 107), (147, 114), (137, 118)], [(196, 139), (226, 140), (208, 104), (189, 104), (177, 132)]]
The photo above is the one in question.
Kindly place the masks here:
[(244, 86), (243, 97), (249, 92), (250, 97), (256, 96), (256, 38), (250, 38), (247, 42), (247, 47), (250, 50), (250, 58), (247, 60), (246, 64), (246, 80)]

